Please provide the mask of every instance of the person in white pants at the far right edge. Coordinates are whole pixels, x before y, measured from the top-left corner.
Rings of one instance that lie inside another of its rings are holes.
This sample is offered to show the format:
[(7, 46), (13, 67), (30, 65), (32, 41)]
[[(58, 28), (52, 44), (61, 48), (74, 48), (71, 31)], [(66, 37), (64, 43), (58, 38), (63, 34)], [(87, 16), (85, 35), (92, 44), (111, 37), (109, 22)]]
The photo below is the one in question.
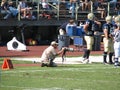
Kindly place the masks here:
[(115, 23), (117, 28), (113, 32), (114, 37), (114, 66), (120, 66), (119, 57), (120, 57), (120, 16), (115, 17)]

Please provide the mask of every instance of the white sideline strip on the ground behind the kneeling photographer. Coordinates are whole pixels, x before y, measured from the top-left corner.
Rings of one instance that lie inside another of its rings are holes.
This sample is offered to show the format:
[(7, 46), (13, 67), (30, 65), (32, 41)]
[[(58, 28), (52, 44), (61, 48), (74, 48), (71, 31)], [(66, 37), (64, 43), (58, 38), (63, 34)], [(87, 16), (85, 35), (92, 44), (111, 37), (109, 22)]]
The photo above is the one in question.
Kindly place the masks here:
[[(90, 56), (89, 60), (91, 62), (103, 62), (102, 56)], [(41, 62), (41, 58), (32, 57), (32, 58), (21, 58), (21, 57), (12, 57), (11, 60), (21, 60), (21, 61), (32, 61), (32, 62)], [(66, 57), (64, 62), (62, 62), (61, 57), (55, 58), (54, 62), (58, 64), (80, 64), (82, 62), (82, 57)]]

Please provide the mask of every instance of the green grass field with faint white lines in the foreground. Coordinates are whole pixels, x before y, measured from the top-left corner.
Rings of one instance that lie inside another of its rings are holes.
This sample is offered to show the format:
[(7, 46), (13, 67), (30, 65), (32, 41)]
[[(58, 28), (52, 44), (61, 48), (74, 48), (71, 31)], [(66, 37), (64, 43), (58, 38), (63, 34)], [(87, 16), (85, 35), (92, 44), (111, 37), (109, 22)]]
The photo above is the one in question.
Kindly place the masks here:
[[(31, 63), (14, 61), (14, 63)], [(119, 90), (120, 68), (78, 64), (0, 70), (0, 90)]]

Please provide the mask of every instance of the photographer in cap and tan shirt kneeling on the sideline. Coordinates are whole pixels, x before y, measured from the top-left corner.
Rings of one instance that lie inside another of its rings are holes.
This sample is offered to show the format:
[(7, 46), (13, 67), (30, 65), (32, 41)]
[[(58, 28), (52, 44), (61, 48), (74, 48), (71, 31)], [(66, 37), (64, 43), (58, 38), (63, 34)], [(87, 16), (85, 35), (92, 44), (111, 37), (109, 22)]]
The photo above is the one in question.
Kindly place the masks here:
[(56, 51), (58, 43), (56, 41), (52, 41), (50, 46), (46, 48), (41, 56), (42, 64), (41, 67), (47, 66), (47, 67), (56, 67), (57, 64), (53, 62), (55, 57), (57, 55), (60, 55), (64, 52), (65, 48), (62, 48), (60, 51)]

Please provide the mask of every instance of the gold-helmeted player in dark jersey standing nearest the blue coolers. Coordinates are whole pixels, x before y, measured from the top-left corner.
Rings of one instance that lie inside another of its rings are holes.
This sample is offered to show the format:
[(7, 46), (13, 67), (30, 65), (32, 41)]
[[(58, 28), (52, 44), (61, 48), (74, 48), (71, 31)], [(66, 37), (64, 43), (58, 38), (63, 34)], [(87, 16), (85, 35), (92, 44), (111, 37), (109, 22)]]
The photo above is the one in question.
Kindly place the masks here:
[(87, 45), (87, 49), (84, 51), (84, 55), (83, 55), (83, 63), (90, 63), (89, 55), (92, 50), (92, 45), (94, 43), (94, 33), (95, 33), (95, 30), (94, 30), (95, 27), (93, 27), (93, 24), (101, 25), (101, 23), (96, 20), (94, 14), (89, 13), (87, 15), (87, 20), (85, 21), (85, 24), (83, 27), (84, 32), (85, 32), (84, 39)]

